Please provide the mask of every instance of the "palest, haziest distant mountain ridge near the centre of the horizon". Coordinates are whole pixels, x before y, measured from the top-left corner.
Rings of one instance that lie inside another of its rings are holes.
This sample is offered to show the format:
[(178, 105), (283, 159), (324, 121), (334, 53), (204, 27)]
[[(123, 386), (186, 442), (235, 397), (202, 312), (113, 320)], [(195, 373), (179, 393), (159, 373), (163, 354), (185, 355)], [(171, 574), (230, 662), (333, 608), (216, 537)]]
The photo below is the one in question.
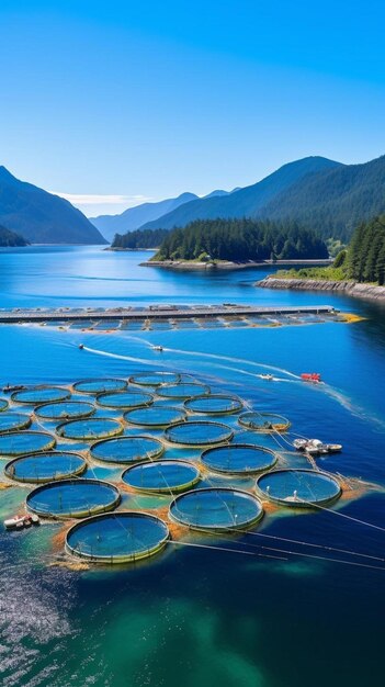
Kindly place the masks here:
[[(228, 195), (228, 191), (212, 191), (205, 198)], [(195, 193), (182, 193), (178, 198), (170, 198), (166, 201), (159, 201), (158, 203), (143, 203), (135, 207), (128, 207), (120, 215), (99, 215), (99, 217), (91, 217), (90, 222), (105, 236), (105, 238), (113, 239), (115, 234), (126, 234), (127, 232), (134, 232), (148, 222), (159, 219), (163, 215), (172, 213), (174, 210), (184, 205), (191, 201), (199, 200)]]

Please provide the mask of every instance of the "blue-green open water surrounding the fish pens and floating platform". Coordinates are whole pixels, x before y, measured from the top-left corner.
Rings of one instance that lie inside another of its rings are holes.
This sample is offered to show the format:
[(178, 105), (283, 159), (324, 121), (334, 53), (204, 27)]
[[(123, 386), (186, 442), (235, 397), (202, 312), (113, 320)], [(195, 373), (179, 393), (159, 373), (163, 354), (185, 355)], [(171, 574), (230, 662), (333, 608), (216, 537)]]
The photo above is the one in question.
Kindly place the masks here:
[[(93, 247), (1, 250), (0, 306), (330, 304), (364, 319), (109, 334), (1, 325), (1, 384), (69, 383), (156, 370), (191, 373), (217, 392), (241, 396), (250, 407), (284, 415), (293, 431), (341, 442), (341, 454), (319, 460), (325, 470), (361, 476), (381, 488), (331, 513), (268, 515), (258, 531), (269, 537), (222, 540), (223, 548), (237, 553), (169, 547), (152, 561), (120, 570), (53, 566), (57, 525), (1, 532), (2, 684), (381, 684), (385, 571), (375, 567), (385, 565), (377, 560), (385, 559), (384, 308), (329, 293), (254, 289), (267, 269), (205, 274), (140, 268), (148, 255)], [(152, 345), (161, 345), (163, 352), (154, 351)], [(304, 371), (319, 371), (326, 384), (302, 383)], [(273, 372), (278, 381), (260, 380), (256, 375), (261, 372)], [(98, 469), (97, 476), (106, 474), (103, 466)], [(0, 492), (2, 519), (26, 493), (23, 487)], [(143, 498), (151, 508), (152, 497)], [(374, 558), (327, 553), (282, 538)], [(206, 543), (215, 542), (207, 536)], [(276, 558), (263, 558), (268, 555)]]

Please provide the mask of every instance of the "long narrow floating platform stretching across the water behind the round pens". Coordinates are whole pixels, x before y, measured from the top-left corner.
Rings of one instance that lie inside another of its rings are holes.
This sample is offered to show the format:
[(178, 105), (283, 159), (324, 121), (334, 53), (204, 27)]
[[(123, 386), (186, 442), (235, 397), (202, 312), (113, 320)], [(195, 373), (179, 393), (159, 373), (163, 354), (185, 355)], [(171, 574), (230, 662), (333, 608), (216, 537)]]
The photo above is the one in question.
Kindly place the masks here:
[(82, 320), (169, 320), (206, 319), (235, 317), (280, 317), (280, 316), (336, 316), (339, 312), (330, 305), (304, 305), (262, 307), (252, 305), (150, 305), (148, 307), (115, 308), (13, 308), (0, 309), (1, 324), (23, 323), (73, 323)]

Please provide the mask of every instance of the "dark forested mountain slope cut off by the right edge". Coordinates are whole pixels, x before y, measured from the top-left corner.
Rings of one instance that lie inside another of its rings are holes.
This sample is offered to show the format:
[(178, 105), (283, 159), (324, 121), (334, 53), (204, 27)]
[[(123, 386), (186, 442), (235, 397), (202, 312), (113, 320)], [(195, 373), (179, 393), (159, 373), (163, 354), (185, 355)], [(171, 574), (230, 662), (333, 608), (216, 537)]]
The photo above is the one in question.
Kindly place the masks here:
[(385, 213), (385, 156), (312, 174), (275, 195), (261, 217), (295, 219), (322, 237), (349, 240), (354, 228)]

